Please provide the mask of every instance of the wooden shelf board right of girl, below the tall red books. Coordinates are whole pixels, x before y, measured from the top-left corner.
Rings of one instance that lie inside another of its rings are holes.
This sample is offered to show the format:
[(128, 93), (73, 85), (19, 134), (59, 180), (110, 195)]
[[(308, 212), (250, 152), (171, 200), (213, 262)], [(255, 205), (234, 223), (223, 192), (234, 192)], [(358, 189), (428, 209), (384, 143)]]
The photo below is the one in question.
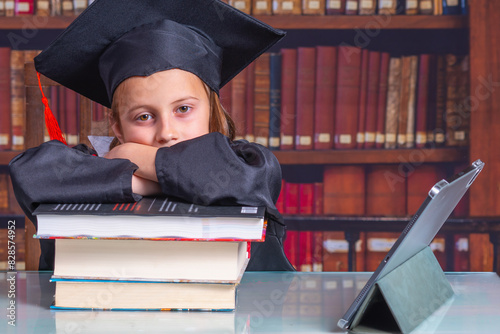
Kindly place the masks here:
[(396, 150), (273, 151), (282, 165), (388, 164), (466, 162), (467, 148), (425, 148)]

